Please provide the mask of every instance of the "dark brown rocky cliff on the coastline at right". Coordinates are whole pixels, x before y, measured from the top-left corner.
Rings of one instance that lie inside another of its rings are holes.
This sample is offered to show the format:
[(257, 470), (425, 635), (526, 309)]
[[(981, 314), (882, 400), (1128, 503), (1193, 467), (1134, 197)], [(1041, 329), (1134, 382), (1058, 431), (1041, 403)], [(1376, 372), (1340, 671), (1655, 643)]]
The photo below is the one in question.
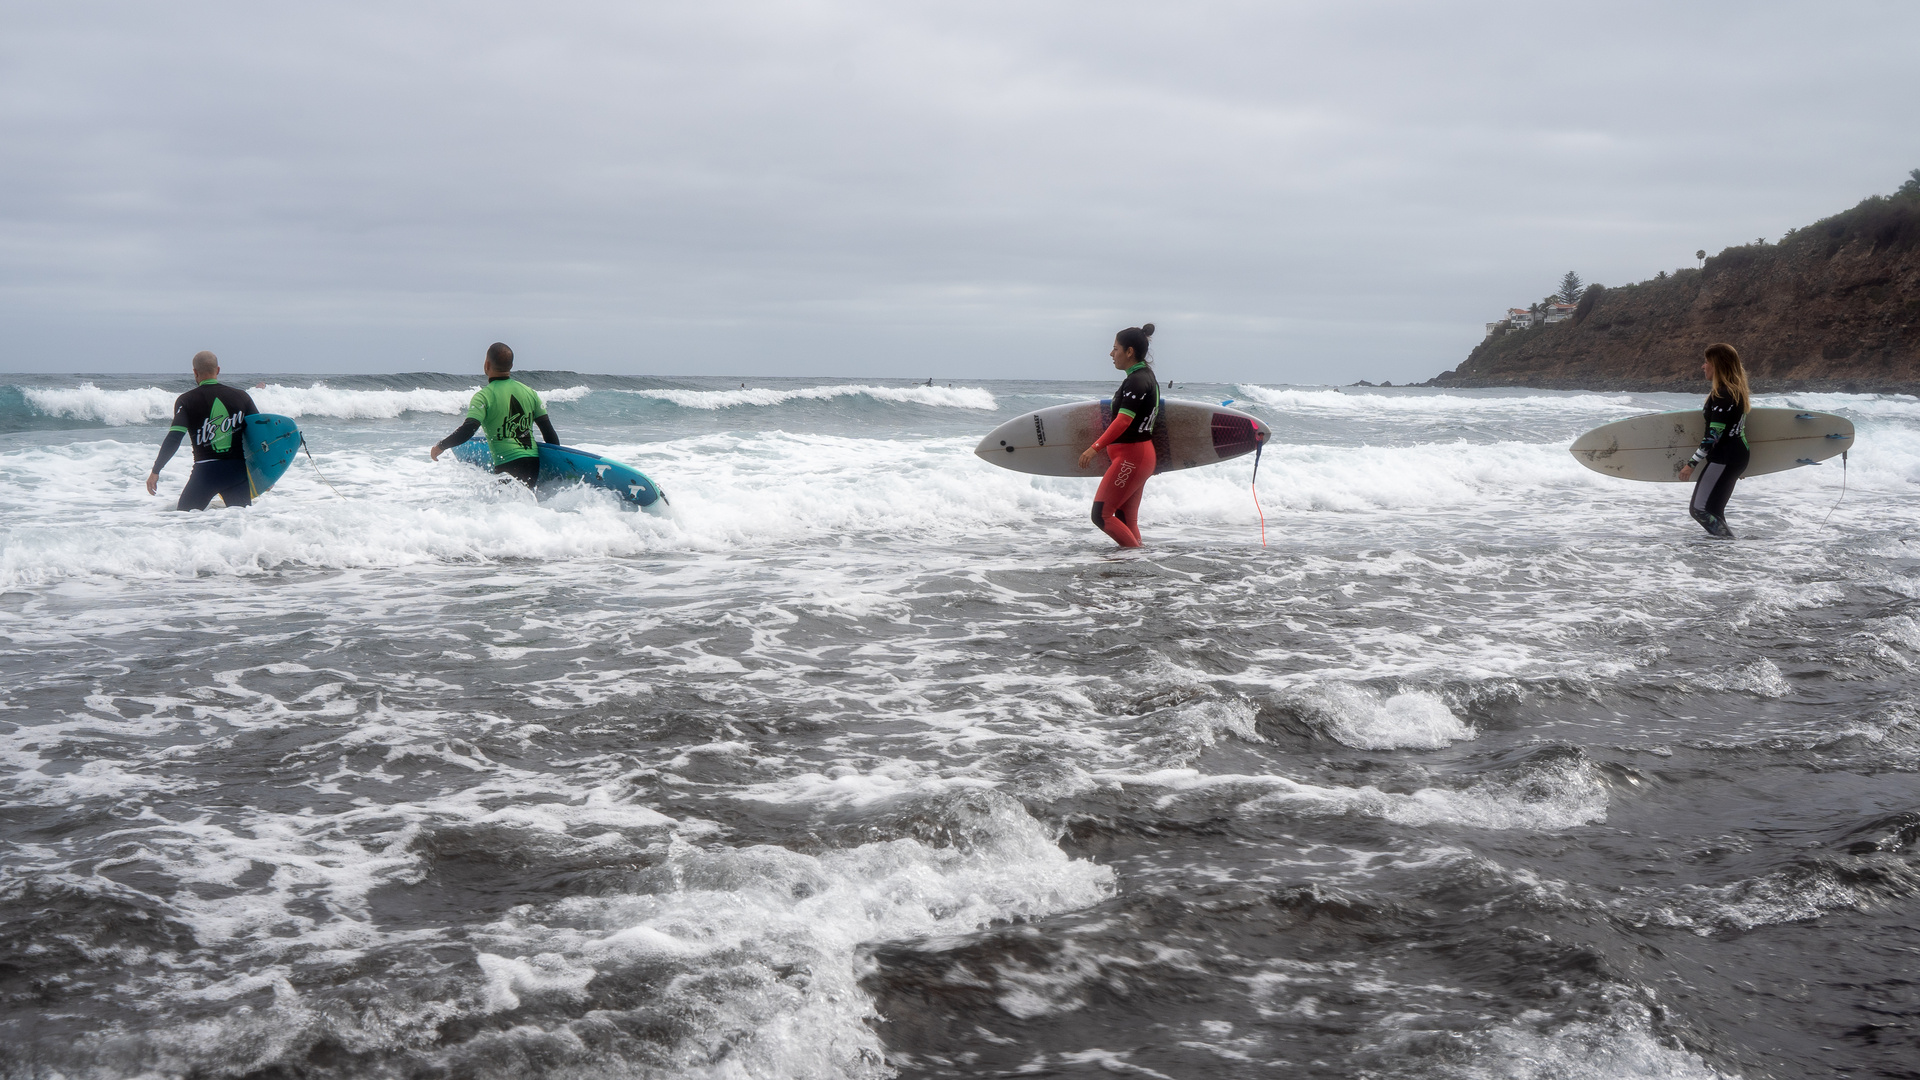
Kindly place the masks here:
[(1494, 331), (1427, 384), (1692, 392), (1701, 350), (1722, 340), (1763, 392), (1920, 392), (1920, 169), (1778, 244), (1590, 286), (1572, 319)]

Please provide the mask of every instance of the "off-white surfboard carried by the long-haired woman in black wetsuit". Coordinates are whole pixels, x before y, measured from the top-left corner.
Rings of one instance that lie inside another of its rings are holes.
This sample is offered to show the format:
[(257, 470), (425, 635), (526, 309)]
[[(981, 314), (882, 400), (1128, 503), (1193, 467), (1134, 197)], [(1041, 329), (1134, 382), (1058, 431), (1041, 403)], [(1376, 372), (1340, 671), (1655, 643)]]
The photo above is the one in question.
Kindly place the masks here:
[[(1574, 461), (1596, 473), (1626, 480), (1680, 482), (1680, 467), (1707, 434), (1699, 409), (1628, 417), (1572, 440)], [(1837, 457), (1853, 446), (1853, 421), (1807, 409), (1753, 409), (1747, 413), (1747, 477), (1786, 473)]]

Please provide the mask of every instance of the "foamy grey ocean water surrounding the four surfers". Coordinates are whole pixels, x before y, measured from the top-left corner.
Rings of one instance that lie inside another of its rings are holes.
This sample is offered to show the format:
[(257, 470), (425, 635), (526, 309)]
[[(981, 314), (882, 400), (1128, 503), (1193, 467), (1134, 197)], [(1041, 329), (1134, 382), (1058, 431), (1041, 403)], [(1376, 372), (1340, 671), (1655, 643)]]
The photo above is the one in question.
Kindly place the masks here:
[(0, 1074), (1916, 1074), (1914, 398), (1715, 542), (1565, 452), (1695, 398), (1179, 384), (1265, 544), (1117, 552), (972, 455), (1112, 379), (524, 379), (670, 513), (234, 373), (313, 461), (179, 515), (184, 375), (0, 377)]

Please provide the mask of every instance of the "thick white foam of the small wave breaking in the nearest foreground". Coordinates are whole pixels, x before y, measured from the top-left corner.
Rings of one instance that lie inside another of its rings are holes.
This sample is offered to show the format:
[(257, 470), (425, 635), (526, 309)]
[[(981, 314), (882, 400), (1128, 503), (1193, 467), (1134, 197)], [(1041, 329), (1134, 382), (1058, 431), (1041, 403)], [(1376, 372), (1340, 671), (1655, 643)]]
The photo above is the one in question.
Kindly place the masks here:
[[(975, 792), (956, 813), (970, 834), (956, 847), (891, 840), (803, 855), (676, 846), (655, 874), (676, 882), (670, 890), (564, 899), (478, 930), (492, 949), (488, 1007), (580, 995), (599, 972), (664, 963), (689, 972), (662, 990), (670, 1005), (703, 1015), (714, 1034), (747, 1036), (728, 1036), (732, 1074), (860, 1072), (881, 1059), (876, 1013), (856, 984), (864, 944), (966, 932), (1112, 894), (1112, 871), (1068, 859), (1012, 799)], [(695, 1067), (710, 1049), (687, 1045), (678, 1057)]]

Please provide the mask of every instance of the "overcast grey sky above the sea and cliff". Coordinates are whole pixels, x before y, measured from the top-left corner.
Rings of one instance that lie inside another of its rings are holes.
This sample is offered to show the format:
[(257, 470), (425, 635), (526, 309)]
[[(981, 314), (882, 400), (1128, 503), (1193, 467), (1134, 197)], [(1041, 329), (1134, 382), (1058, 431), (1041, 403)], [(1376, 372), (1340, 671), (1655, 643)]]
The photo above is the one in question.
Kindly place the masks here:
[(1916, 102), (1910, 0), (0, 0), (0, 369), (1400, 382)]

